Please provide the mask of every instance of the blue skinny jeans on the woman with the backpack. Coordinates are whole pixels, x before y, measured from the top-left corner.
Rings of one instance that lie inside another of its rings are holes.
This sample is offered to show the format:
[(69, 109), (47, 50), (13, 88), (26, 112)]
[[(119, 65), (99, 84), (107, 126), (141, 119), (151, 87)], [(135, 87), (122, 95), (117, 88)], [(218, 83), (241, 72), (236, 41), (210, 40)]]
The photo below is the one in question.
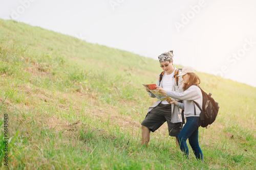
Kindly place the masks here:
[(200, 117), (191, 116), (187, 117), (187, 122), (182, 128), (180, 134), (178, 135), (178, 142), (180, 149), (184, 152), (188, 158), (188, 148), (186, 140), (188, 138), (189, 144), (193, 149), (194, 154), (197, 159), (203, 160), (203, 153), (198, 143), (198, 128), (201, 126)]

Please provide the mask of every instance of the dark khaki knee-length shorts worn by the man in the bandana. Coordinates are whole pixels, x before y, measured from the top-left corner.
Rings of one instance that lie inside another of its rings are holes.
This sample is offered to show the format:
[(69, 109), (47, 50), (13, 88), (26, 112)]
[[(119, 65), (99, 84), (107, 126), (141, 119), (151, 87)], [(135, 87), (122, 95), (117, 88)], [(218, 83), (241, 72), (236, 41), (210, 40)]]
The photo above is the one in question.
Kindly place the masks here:
[(150, 129), (151, 132), (155, 132), (160, 128), (163, 123), (167, 121), (168, 131), (170, 136), (178, 136), (183, 125), (182, 123), (171, 123), (170, 117), (172, 116), (172, 105), (159, 104), (147, 113), (145, 119), (141, 125)]

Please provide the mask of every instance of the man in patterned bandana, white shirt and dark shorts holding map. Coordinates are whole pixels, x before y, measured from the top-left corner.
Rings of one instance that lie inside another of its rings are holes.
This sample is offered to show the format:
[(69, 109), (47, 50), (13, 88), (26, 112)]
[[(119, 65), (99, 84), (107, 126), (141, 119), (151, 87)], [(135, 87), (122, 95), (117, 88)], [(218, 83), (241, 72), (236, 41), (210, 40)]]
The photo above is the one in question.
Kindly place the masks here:
[[(173, 51), (165, 52), (158, 56), (164, 74), (161, 81), (158, 78), (156, 85), (162, 87), (166, 91), (182, 92), (183, 80), (180, 78), (177, 85), (174, 77), (177, 68), (173, 66), (173, 57)], [(152, 92), (147, 89), (146, 91), (152, 98), (156, 98)], [(167, 101), (161, 100), (158, 100), (152, 107), (148, 108), (148, 113), (141, 123), (142, 144), (146, 144), (147, 146), (148, 142), (150, 142), (150, 133), (155, 132), (166, 121), (168, 124), (169, 136), (176, 137), (176, 145), (179, 148), (177, 137), (182, 129), (180, 109), (174, 104), (169, 104)]]

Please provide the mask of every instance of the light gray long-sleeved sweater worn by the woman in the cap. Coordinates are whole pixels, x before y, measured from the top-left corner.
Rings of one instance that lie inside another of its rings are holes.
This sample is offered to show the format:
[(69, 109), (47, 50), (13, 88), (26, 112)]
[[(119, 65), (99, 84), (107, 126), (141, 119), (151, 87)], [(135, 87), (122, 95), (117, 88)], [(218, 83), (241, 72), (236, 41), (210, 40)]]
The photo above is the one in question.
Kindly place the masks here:
[[(170, 96), (174, 99), (183, 100), (183, 103), (178, 102), (177, 106), (181, 109), (184, 109), (184, 115), (186, 117), (200, 116), (201, 111), (193, 102), (197, 102), (199, 106), (202, 108), (203, 96), (199, 87), (190, 86), (183, 92), (167, 91), (167, 96)], [(196, 115), (194, 113), (194, 107), (196, 107)]]

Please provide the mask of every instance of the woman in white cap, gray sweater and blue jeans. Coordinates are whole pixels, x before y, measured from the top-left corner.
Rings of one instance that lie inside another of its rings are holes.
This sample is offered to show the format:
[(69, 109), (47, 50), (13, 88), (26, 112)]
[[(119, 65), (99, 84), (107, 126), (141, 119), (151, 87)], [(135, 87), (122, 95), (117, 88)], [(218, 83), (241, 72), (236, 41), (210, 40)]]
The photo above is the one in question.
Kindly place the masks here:
[(203, 153), (198, 142), (198, 128), (201, 126), (201, 111), (194, 103), (194, 101), (197, 102), (202, 108), (203, 96), (200, 88), (198, 87), (200, 84), (200, 78), (195, 74), (195, 70), (189, 66), (184, 67), (178, 76), (182, 76), (183, 79), (183, 92), (166, 91), (159, 86), (156, 88), (159, 92), (162, 92), (167, 96), (183, 100), (183, 103), (177, 102), (173, 99), (168, 100), (170, 104), (175, 104), (179, 108), (184, 109), (184, 115), (187, 119), (186, 124), (178, 135), (180, 149), (188, 158), (188, 147), (186, 143), (188, 138), (189, 144), (191, 145), (196, 158), (203, 160)]

